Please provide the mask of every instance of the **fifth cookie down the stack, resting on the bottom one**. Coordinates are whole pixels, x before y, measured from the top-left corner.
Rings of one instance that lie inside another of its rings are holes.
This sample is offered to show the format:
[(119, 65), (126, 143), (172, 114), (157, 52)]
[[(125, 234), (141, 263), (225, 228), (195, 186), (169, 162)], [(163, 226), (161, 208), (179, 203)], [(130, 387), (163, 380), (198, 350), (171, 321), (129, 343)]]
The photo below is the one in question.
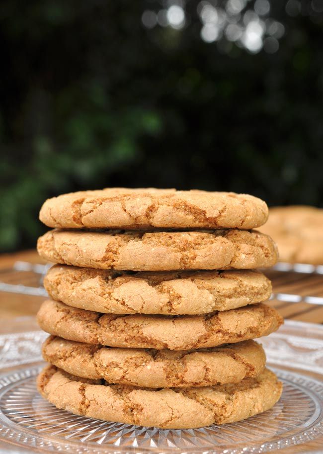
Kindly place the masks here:
[(72, 375), (148, 388), (210, 386), (238, 383), (264, 369), (260, 344), (244, 341), (213, 349), (119, 349), (82, 344), (50, 336), (43, 358)]

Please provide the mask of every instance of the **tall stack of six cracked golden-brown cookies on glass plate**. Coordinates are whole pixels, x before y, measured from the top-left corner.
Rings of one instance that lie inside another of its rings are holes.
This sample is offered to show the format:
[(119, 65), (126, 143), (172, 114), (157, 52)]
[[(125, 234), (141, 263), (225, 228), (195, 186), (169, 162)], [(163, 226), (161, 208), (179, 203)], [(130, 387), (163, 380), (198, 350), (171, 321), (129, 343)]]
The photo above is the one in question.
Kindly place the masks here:
[[(271, 408), (281, 383), (253, 339), (282, 323), (265, 304), (273, 241), (250, 230), (253, 196), (110, 188), (47, 200), (40, 256), (52, 299), (38, 377), (58, 408), (161, 428), (239, 421)], [(109, 230), (108, 230), (109, 229)], [(123, 229), (123, 230), (110, 230)]]

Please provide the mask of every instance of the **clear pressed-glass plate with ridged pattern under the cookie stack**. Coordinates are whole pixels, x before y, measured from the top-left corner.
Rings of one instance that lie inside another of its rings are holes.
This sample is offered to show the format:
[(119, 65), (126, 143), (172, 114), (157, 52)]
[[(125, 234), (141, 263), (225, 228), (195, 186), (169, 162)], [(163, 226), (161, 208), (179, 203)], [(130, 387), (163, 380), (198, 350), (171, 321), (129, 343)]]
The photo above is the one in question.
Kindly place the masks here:
[[(1, 443), (28, 452), (77, 454), (256, 454), (285, 449), (310, 453), (313, 446), (323, 446), (320, 326), (288, 321), (278, 333), (261, 339), (269, 365), (284, 383), (274, 408), (238, 423), (193, 430), (109, 423), (58, 410), (35, 386), (45, 337), (40, 331), (0, 336), (0, 366), (7, 370), (0, 377)], [(24, 366), (16, 365), (20, 360)]]

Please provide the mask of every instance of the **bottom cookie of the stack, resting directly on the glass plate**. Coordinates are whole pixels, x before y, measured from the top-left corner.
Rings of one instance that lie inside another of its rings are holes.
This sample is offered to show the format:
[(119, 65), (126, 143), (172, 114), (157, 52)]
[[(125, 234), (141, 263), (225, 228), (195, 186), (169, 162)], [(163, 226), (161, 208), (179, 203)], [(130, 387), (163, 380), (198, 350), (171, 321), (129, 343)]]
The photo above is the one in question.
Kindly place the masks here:
[(282, 383), (268, 369), (240, 383), (154, 390), (98, 384), (49, 365), (40, 372), (37, 387), (49, 402), (74, 414), (162, 429), (241, 421), (273, 407), (282, 392)]

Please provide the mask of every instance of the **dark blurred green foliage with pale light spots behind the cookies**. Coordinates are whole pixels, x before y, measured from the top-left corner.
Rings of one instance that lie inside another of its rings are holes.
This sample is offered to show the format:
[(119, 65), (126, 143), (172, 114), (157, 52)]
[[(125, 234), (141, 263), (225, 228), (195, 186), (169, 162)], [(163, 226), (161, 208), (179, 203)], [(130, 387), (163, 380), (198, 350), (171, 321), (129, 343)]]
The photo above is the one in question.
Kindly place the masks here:
[(323, 0), (0, 3), (0, 248), (106, 186), (323, 204)]

